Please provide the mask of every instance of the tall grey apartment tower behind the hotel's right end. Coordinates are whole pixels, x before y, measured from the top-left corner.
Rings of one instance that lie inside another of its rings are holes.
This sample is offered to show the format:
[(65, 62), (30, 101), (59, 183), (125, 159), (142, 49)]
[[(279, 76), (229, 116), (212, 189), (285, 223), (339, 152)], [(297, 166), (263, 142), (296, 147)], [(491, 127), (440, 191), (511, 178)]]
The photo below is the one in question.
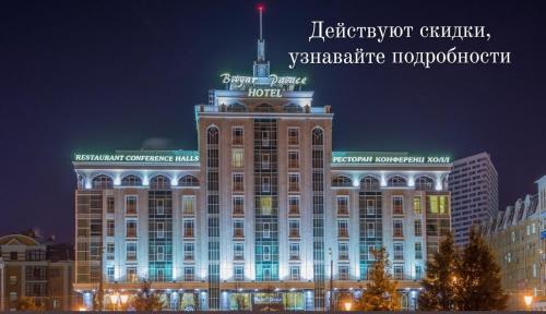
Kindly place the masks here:
[(498, 174), (487, 153), (453, 161), (449, 176), (451, 227), (455, 244), (468, 242), (470, 228), (497, 215), (499, 208)]

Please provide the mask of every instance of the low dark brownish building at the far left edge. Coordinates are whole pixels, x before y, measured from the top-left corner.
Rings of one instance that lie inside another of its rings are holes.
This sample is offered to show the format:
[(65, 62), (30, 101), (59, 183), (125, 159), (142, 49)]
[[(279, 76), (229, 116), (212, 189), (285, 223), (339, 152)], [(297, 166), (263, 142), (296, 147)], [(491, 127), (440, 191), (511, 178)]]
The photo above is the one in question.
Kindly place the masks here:
[(24, 234), (0, 238), (0, 310), (16, 310), (23, 298), (32, 298), (45, 310), (69, 311), (72, 292), (73, 262), (47, 258), (48, 246)]

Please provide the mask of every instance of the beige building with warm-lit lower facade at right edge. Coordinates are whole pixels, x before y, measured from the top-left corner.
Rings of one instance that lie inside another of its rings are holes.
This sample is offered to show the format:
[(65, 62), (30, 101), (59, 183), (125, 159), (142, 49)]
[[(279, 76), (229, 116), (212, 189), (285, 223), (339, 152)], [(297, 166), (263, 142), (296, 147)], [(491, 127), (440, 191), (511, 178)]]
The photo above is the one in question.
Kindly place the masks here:
[(509, 310), (526, 310), (525, 295), (538, 304), (544, 295), (538, 195), (526, 195), (486, 224), (484, 232), (501, 267)]

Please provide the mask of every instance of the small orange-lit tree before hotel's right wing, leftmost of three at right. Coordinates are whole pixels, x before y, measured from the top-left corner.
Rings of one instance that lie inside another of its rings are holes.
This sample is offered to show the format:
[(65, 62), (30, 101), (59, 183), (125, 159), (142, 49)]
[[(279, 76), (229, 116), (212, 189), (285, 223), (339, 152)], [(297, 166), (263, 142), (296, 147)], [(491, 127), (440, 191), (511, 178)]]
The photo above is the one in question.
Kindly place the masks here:
[(400, 298), (396, 292), (397, 282), (389, 273), (389, 255), (384, 247), (373, 250), (373, 265), (368, 273), (366, 291), (358, 300), (360, 311), (394, 311), (400, 309)]

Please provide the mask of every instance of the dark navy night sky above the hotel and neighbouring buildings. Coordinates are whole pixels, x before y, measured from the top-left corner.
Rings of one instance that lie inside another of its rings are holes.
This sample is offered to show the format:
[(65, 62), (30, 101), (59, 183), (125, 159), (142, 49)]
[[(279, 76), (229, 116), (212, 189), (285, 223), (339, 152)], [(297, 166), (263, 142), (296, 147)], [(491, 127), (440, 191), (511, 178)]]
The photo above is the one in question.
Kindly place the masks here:
[[(336, 150), (488, 152), (501, 207), (546, 174), (544, 8), (527, 1), (265, 1), (272, 72), (307, 75)], [(0, 10), (0, 234), (73, 242), (74, 150), (195, 149), (193, 106), (250, 74), (256, 1), (5, 1)], [(491, 39), (308, 41), (311, 21), (485, 25)], [(308, 65), (288, 51), (511, 51), (512, 64)]]

